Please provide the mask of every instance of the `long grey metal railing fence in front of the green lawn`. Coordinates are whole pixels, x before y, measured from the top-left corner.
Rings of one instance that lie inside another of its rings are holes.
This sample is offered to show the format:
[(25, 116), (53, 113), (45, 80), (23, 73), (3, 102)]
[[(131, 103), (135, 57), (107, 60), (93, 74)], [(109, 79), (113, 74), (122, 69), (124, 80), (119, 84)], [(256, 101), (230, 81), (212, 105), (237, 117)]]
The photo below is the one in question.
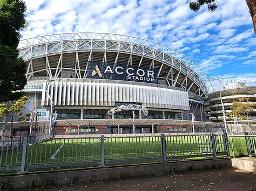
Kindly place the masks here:
[[(12, 143), (14, 145), (14, 143)], [(4, 146), (7, 145), (7, 146)], [(6, 140), (0, 148), (0, 171), (34, 168), (167, 161), (230, 155), (225, 133), (161, 134)]]

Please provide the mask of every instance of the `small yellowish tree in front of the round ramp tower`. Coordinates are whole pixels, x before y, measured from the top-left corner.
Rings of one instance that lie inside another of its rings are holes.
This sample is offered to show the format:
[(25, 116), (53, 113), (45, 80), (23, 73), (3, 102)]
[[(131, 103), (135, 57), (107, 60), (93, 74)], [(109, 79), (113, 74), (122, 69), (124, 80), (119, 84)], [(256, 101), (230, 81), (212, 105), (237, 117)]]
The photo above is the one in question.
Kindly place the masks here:
[(239, 98), (238, 100), (234, 101), (231, 105), (231, 113), (229, 114), (230, 118), (233, 116), (238, 117), (240, 119), (247, 119), (247, 116), (250, 111), (252, 111), (255, 107), (255, 104), (249, 102), (249, 98)]

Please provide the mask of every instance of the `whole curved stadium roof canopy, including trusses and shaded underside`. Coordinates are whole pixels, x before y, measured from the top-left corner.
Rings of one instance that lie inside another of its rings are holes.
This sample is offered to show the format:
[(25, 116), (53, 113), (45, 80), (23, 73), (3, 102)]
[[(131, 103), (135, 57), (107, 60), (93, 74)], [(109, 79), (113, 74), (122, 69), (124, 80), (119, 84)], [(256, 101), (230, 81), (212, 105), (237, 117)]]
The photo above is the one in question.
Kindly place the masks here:
[(60, 77), (73, 70), (86, 78), (86, 63), (126, 63), (157, 68), (169, 86), (205, 96), (206, 74), (190, 59), (150, 40), (108, 33), (64, 33), (21, 40), (19, 56), (28, 63), (26, 76)]

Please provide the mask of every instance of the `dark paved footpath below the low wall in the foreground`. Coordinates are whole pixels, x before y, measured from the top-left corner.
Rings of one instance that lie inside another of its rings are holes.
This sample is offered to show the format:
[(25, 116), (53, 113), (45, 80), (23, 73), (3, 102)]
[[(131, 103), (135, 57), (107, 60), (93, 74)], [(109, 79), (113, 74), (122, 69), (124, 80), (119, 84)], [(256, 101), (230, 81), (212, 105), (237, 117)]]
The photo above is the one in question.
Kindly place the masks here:
[(256, 190), (256, 174), (237, 169), (217, 169), (36, 190)]

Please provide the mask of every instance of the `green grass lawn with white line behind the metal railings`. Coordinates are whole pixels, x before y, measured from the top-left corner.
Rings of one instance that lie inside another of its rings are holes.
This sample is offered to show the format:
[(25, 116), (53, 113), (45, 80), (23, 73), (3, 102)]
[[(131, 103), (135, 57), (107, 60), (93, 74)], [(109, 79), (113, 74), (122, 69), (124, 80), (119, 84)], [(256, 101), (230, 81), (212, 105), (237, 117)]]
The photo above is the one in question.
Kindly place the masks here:
[[(233, 155), (231, 138), (228, 138)], [(215, 138), (217, 152), (225, 152), (223, 136)], [(246, 154), (245, 138), (233, 138), (235, 154)], [(166, 136), (166, 155), (183, 156), (212, 153), (209, 135)], [(52, 139), (29, 145), (26, 165), (68, 163), (100, 160), (100, 138)], [(129, 158), (161, 158), (160, 137), (110, 137), (105, 138), (105, 160)], [(22, 148), (2, 151), (1, 166), (15, 166), (21, 163)]]

